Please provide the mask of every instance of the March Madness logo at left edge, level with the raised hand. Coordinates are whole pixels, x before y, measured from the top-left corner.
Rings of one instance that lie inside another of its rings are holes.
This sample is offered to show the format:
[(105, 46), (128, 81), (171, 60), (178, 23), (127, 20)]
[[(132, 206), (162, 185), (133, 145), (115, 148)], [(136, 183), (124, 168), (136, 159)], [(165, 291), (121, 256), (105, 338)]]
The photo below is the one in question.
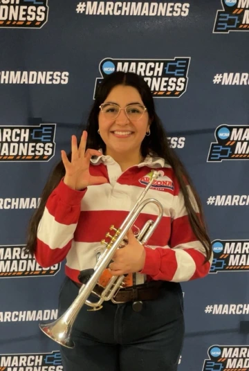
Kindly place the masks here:
[(55, 154), (56, 124), (0, 127), (0, 161), (48, 162)]

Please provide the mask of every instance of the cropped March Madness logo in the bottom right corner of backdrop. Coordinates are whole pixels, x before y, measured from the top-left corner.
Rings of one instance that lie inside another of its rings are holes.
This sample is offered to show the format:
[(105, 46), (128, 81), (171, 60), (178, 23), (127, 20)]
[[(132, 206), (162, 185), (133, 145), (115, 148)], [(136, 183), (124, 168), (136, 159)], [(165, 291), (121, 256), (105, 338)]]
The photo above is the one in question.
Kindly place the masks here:
[(208, 350), (209, 359), (205, 359), (203, 371), (248, 371), (248, 345), (212, 345)]

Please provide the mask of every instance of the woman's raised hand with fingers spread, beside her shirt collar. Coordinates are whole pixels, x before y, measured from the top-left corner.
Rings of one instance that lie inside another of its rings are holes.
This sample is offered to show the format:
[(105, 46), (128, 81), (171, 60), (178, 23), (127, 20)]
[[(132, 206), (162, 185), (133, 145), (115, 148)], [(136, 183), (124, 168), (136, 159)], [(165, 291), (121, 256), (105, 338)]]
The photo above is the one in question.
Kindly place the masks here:
[[(101, 156), (97, 150), (86, 150), (87, 132), (82, 133), (79, 148), (77, 147), (77, 138), (75, 135), (71, 138), (72, 155), (71, 162), (66, 156), (64, 150), (62, 153), (62, 162), (66, 169), (64, 183), (73, 190), (83, 190), (88, 185), (107, 183), (104, 177), (93, 177), (89, 172), (91, 156)], [(85, 152), (86, 150), (86, 152)]]

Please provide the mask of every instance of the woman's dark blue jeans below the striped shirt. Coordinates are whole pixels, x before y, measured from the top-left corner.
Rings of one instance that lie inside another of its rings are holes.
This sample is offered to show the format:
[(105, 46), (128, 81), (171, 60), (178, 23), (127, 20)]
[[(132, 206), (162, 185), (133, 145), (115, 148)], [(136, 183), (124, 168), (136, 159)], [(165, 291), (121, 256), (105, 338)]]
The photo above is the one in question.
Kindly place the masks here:
[[(59, 293), (59, 316), (79, 289), (69, 278)], [(89, 300), (96, 302), (95, 296)], [(61, 346), (64, 371), (176, 371), (184, 336), (181, 286), (164, 282), (156, 300), (133, 311), (131, 302), (104, 302), (99, 311), (84, 305), (73, 325), (73, 349)]]

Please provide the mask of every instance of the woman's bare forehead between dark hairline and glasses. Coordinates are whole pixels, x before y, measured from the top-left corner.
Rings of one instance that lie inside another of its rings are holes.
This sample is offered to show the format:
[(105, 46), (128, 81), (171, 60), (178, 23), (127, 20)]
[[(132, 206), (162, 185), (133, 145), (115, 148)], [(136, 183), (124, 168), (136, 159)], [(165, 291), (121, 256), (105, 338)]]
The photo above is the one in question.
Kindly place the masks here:
[(142, 98), (138, 90), (124, 85), (117, 85), (111, 89), (104, 102), (109, 101), (118, 103), (118, 105), (128, 105), (131, 102), (140, 102), (142, 104)]

